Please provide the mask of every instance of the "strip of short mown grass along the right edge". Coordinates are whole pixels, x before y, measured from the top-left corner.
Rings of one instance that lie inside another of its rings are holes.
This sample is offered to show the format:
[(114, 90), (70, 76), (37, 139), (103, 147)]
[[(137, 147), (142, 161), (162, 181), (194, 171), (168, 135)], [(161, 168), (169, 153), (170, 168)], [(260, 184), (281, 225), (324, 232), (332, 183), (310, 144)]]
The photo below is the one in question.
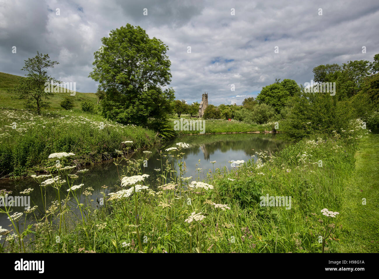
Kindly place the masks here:
[(369, 134), (355, 154), (355, 170), (343, 194), (341, 252), (379, 252), (378, 146), (379, 134)]

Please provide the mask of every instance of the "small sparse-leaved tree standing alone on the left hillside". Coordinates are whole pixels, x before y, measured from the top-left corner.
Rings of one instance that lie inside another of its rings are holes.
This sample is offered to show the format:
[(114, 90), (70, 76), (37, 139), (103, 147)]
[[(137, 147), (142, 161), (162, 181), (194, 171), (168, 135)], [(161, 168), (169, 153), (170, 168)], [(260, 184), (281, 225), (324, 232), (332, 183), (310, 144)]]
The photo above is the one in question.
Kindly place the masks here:
[[(53, 96), (50, 92), (50, 84), (60, 83), (59, 80), (47, 75), (47, 68), (54, 68), (59, 64), (57, 61), (51, 61), (49, 54), (40, 54), (33, 58), (28, 58), (25, 66), (21, 69), (27, 71), (26, 77), (20, 77), (18, 84), (9, 93), (16, 95), (16, 99), (24, 100), (24, 106), (28, 110), (36, 109), (37, 113), (41, 113), (42, 108), (49, 107), (47, 100)], [(49, 84), (49, 90), (45, 90), (46, 84)]]

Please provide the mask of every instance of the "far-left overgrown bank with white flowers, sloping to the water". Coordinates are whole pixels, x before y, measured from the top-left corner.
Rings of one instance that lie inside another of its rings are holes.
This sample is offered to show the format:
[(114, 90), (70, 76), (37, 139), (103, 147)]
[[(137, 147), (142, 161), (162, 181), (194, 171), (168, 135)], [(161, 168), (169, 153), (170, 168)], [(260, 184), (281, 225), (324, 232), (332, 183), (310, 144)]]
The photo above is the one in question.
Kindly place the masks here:
[[(20, 177), (46, 171), (51, 153), (75, 155), (60, 160), (64, 166), (85, 166), (116, 157), (115, 150), (139, 150), (160, 142), (156, 132), (121, 125), (84, 112), (0, 110), (0, 177)], [(122, 143), (132, 141), (133, 143)]]

